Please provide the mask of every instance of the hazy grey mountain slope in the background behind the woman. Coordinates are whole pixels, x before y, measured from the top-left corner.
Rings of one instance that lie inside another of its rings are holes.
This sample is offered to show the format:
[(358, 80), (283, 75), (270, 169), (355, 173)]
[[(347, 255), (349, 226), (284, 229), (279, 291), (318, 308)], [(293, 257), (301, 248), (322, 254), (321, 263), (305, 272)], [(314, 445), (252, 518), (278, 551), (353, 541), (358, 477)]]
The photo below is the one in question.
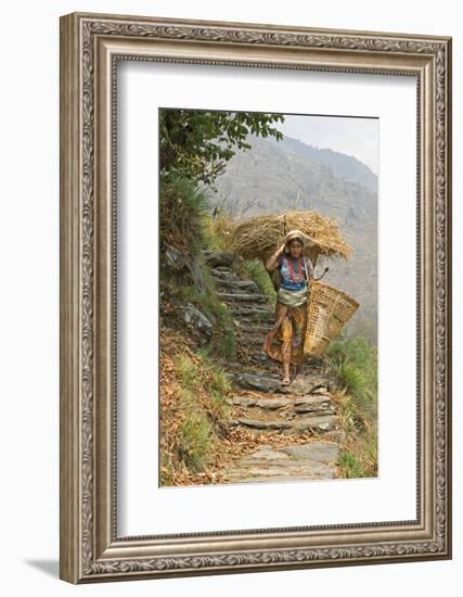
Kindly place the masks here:
[[(348, 325), (376, 342), (377, 201), (376, 176), (355, 157), (311, 148), (286, 137), (275, 141), (249, 137), (252, 150), (237, 152), (218, 177), (213, 208), (245, 219), (261, 213), (314, 209), (338, 221), (352, 245), (349, 262), (327, 264), (324, 281), (361, 304)], [(323, 265), (320, 262), (320, 266)], [(320, 271), (320, 269), (319, 269)]]

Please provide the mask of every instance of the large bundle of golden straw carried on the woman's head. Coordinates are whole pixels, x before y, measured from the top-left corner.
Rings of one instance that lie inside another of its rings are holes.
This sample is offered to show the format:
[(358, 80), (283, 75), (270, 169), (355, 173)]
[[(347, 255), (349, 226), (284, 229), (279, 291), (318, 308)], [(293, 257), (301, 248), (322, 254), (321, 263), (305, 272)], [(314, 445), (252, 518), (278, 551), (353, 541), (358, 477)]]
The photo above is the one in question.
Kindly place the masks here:
[(317, 261), (318, 255), (350, 257), (347, 244), (336, 223), (316, 212), (286, 212), (255, 216), (237, 225), (231, 234), (230, 251), (244, 259), (266, 261), (283, 242), (290, 230), (299, 229), (312, 241), (307, 253)]

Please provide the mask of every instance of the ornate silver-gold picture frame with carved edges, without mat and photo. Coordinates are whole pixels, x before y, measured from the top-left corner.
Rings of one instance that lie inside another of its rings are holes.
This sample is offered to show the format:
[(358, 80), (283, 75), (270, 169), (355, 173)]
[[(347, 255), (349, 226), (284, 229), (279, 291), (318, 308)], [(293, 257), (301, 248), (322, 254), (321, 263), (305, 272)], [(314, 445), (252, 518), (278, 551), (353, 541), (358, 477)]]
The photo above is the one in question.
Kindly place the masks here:
[[(451, 38), (73, 13), (61, 18), (61, 547), (70, 583), (451, 558)], [(115, 65), (154, 61), (417, 82), (416, 520), (117, 534)]]

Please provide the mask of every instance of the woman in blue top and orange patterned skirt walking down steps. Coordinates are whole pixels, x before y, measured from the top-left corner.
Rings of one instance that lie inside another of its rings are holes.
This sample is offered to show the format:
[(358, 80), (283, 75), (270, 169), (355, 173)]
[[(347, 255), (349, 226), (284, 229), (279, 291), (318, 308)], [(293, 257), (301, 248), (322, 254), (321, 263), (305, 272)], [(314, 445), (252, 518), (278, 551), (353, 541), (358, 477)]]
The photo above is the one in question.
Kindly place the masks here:
[[(272, 274), (280, 270), (280, 288), (276, 294), (275, 325), (267, 334), (265, 352), (283, 364), (283, 385), (290, 385), (291, 363), (300, 365), (304, 360), (304, 336), (307, 325), (307, 296), (313, 266), (303, 250), (308, 239), (300, 230), (286, 234), (284, 243), (267, 261), (266, 268)], [(273, 345), (275, 335), (281, 341)]]

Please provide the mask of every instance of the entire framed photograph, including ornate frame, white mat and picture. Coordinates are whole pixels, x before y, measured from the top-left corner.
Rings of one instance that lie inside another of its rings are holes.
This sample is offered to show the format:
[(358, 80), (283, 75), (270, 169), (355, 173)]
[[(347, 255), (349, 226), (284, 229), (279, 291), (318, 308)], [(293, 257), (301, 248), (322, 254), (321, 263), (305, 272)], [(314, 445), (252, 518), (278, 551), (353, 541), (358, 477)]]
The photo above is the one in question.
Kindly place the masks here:
[(451, 558), (451, 39), (61, 18), (70, 583)]

